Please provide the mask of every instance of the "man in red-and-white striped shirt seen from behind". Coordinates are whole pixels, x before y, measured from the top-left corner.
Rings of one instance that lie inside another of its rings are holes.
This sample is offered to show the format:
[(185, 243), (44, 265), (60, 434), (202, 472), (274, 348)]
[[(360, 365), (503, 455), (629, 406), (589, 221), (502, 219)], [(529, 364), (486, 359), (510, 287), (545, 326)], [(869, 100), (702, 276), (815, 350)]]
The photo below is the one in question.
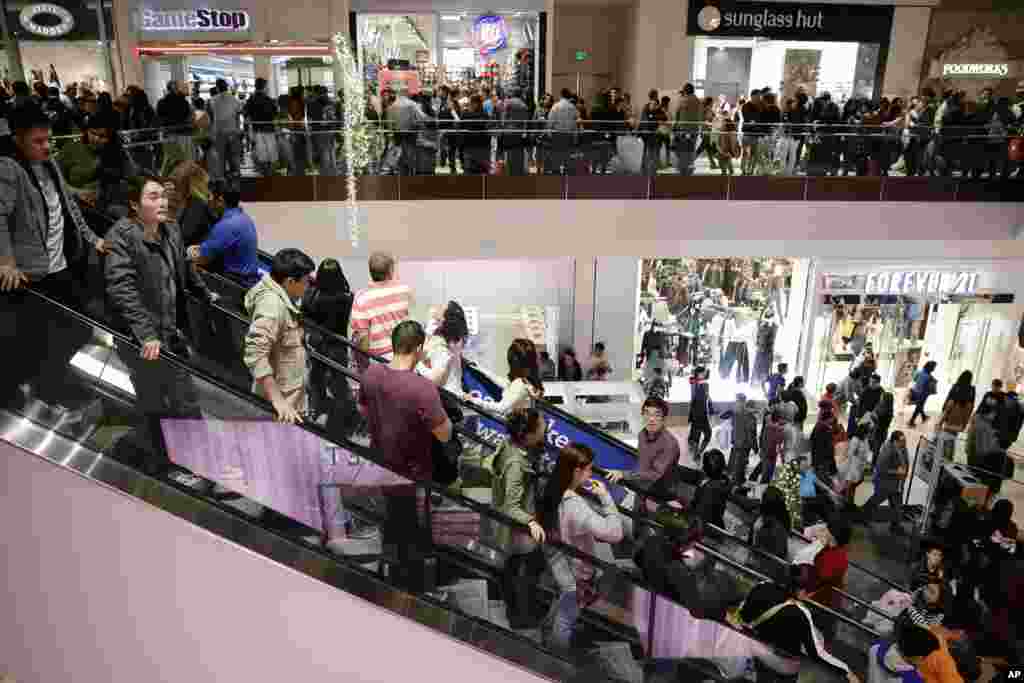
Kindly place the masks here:
[(370, 256), (370, 287), (352, 302), (352, 341), (362, 351), (390, 359), (391, 331), (409, 317), (413, 291), (397, 281), (394, 257), (383, 252)]

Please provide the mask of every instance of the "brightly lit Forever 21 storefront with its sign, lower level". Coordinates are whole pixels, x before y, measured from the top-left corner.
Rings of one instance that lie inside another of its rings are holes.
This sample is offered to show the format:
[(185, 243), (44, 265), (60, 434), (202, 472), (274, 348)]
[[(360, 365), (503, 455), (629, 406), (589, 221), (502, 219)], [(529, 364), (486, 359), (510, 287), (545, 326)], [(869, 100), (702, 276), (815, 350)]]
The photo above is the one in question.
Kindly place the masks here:
[[(878, 278), (906, 283), (907, 273), (912, 284), (895, 288), (907, 293), (867, 293), (879, 289), (876, 283), (883, 281)], [(900, 401), (914, 371), (929, 360), (936, 364), (937, 402), (964, 372), (973, 375), (979, 397), (995, 379), (1008, 390), (1015, 388), (1024, 381), (1024, 305), (1013, 303), (1012, 295), (979, 293), (977, 278), (930, 270), (823, 275), (811, 325), (808, 389), (821, 395), (827, 384), (839, 384), (867, 359)], [(936, 282), (939, 291), (922, 293), (918, 282), (925, 290)]]

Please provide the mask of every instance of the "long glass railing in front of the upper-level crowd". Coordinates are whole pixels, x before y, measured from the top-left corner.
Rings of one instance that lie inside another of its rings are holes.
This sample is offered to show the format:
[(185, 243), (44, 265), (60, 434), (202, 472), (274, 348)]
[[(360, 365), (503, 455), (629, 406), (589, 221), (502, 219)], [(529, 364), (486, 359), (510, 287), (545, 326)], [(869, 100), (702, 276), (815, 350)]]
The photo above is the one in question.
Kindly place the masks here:
[[(349, 164), (337, 125), (249, 124), (228, 177), (241, 184), (245, 201), (344, 201)], [(571, 131), (543, 122), (444, 125), (359, 128), (351, 136), (358, 198), (1018, 201), (1024, 178), (1019, 153), (1011, 153), (1019, 148), (1011, 144), (1019, 131), (990, 133), (983, 126), (758, 124), (733, 135), (679, 123), (665, 134), (601, 121)], [(208, 131), (120, 136), (140, 166), (164, 174), (183, 159), (219, 166)], [(715, 151), (728, 146), (734, 146), (732, 161), (720, 164)]]

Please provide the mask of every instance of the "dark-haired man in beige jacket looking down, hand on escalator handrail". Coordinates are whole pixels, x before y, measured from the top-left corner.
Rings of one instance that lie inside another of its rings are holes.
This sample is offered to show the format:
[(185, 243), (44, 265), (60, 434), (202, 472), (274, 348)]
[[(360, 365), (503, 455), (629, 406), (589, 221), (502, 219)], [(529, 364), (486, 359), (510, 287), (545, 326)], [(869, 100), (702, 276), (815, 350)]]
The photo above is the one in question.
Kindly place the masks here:
[(302, 422), (306, 410), (305, 329), (299, 303), (315, 269), (298, 249), (274, 254), (270, 272), (246, 294), (252, 323), (245, 341), (245, 364), (253, 391), (273, 403), (281, 422)]

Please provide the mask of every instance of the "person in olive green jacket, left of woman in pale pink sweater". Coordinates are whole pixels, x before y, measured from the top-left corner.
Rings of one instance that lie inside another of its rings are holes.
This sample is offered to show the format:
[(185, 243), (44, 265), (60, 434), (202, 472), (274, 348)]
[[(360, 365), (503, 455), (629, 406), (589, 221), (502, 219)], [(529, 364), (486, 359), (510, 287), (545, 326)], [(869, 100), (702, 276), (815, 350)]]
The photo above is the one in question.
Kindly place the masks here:
[(537, 514), (538, 471), (536, 453), (543, 447), (547, 431), (544, 417), (535, 409), (517, 411), (508, 419), (508, 440), (502, 441), (495, 454), (492, 469), (492, 503), (495, 508), (524, 524), (529, 530), (499, 525), (498, 546), (505, 552), (502, 588), (508, 605), (509, 624), (513, 629), (536, 626), (534, 595), (544, 571), (544, 555), (539, 552), (545, 541), (544, 527)]

